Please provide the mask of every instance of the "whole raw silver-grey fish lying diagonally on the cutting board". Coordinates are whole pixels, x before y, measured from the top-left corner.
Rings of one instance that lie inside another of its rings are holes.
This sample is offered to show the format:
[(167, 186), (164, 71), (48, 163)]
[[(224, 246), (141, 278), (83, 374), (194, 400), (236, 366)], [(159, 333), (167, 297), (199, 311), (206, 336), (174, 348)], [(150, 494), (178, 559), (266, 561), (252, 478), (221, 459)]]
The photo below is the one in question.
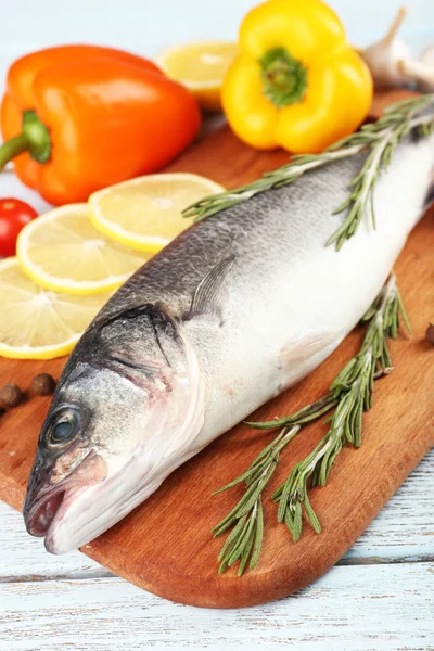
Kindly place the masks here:
[(114, 525), (355, 327), (423, 212), (434, 140), (398, 146), (375, 187), (376, 230), (366, 217), (336, 252), (332, 213), (363, 159), (193, 225), (106, 304), (64, 369), (29, 480), (25, 522), (49, 551)]

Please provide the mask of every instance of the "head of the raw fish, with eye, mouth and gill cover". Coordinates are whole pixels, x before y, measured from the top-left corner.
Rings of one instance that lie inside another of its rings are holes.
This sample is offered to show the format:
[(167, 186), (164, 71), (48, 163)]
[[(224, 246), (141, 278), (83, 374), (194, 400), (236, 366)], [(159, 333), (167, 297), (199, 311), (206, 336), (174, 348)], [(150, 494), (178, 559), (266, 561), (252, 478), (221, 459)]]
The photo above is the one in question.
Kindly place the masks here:
[(194, 350), (162, 308), (97, 322), (73, 352), (40, 432), (27, 531), (52, 553), (89, 542), (190, 456), (203, 413)]

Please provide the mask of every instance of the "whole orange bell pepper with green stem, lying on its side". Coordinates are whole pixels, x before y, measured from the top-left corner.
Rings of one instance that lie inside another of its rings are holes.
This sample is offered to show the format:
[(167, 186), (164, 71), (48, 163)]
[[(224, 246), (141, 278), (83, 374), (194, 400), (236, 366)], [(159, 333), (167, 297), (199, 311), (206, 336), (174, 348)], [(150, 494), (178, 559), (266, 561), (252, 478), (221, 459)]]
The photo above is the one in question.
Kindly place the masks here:
[(10, 68), (1, 105), (0, 169), (49, 203), (161, 169), (194, 138), (192, 94), (145, 59), (97, 46), (34, 52)]

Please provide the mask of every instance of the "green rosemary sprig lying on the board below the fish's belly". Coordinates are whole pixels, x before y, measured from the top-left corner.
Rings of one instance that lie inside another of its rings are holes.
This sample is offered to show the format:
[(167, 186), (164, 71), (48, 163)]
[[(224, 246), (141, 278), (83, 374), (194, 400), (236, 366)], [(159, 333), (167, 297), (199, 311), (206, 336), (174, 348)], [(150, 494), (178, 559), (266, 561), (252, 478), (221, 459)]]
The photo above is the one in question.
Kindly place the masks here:
[(246, 423), (258, 430), (278, 427), (280, 432), (242, 475), (216, 490), (221, 493), (241, 482), (246, 484), (240, 501), (213, 528), (214, 537), (217, 537), (233, 527), (219, 554), (220, 573), (237, 561), (240, 561), (239, 576), (243, 574), (248, 560), (251, 569), (257, 564), (264, 532), (261, 495), (279, 463), (279, 455), (303, 425), (334, 409), (333, 416), (328, 419), (331, 420), (330, 431), (303, 461), (296, 463), (284, 484), (272, 496), (279, 502), (278, 520), (285, 522), (294, 541), (302, 535), (303, 508), (314, 529), (321, 532), (308, 498), (308, 488), (326, 484), (331, 468), (346, 443), (360, 446), (362, 413), (372, 406), (373, 381), (392, 370), (386, 342), (388, 337), (396, 339), (399, 316), (410, 331), (395, 277), (391, 276), (362, 318), (362, 322), (369, 322), (369, 326), (360, 350), (332, 382), (329, 393), (289, 417)]

